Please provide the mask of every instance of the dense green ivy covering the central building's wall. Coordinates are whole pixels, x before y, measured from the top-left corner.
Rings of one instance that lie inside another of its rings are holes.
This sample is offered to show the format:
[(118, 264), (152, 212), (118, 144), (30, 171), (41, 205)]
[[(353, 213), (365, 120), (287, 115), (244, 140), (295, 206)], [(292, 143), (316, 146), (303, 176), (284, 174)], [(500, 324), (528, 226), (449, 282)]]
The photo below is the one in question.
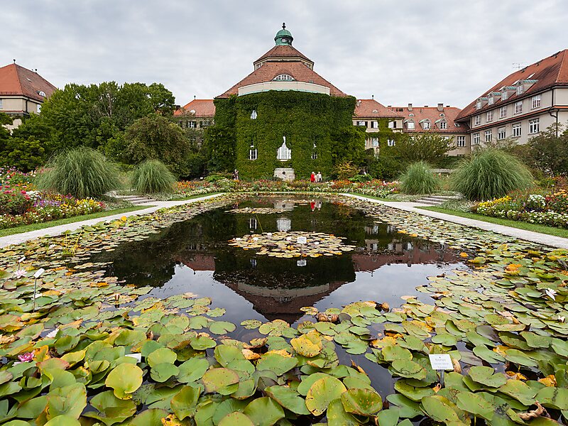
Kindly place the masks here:
[[(354, 97), (293, 91), (216, 99), (215, 125), (207, 131), (211, 169), (237, 168), (245, 179), (271, 178), (275, 168), (293, 168), (300, 179), (312, 171), (329, 175), (334, 164), (364, 153), (364, 129), (351, 121), (355, 102)], [(292, 150), (288, 161), (276, 158), (283, 136)], [(249, 160), (251, 145), (256, 160)]]

